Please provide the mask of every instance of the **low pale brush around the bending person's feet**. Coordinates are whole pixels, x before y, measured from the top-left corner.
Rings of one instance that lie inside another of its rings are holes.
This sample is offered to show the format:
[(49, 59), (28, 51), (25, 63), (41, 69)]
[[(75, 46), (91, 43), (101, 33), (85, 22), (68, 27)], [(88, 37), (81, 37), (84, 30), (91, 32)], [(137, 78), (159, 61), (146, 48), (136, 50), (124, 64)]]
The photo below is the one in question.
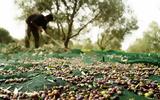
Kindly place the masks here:
[[(28, 53), (28, 52), (44, 52), (44, 53), (52, 53), (52, 52), (65, 52), (65, 49), (62, 49), (53, 44), (42, 44), (42, 46), (38, 49), (33, 48), (25, 48), (23, 46), (23, 41), (17, 41), (9, 44), (0, 44), (0, 53), (2, 54), (14, 54), (14, 53)], [(17, 57), (15, 57), (17, 58)]]

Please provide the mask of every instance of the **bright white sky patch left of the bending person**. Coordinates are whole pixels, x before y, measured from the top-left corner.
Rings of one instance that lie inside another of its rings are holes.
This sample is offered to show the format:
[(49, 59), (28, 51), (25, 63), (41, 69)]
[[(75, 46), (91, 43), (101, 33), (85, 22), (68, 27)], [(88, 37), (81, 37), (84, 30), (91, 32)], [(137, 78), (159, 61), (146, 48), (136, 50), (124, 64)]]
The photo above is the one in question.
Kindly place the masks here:
[(18, 14), (14, 0), (0, 0), (0, 27), (8, 30), (12, 37), (22, 39), (25, 36), (25, 24), (17, 20)]

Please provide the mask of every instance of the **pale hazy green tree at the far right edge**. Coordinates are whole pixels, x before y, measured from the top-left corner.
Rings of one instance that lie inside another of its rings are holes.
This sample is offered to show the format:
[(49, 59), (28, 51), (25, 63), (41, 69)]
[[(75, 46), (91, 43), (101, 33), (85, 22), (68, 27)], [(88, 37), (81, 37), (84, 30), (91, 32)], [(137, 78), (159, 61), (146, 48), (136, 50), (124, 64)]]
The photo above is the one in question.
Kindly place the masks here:
[(129, 52), (160, 52), (160, 27), (152, 22), (144, 36), (137, 39), (128, 49)]

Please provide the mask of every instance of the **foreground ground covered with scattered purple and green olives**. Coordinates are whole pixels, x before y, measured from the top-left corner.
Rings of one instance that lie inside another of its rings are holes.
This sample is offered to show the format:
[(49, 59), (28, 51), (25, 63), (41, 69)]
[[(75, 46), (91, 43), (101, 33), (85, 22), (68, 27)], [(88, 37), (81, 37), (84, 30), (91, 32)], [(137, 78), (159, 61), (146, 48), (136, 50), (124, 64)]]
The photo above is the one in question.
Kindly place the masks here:
[[(32, 54), (37, 56), (37, 54)], [(159, 100), (160, 67), (144, 63), (98, 61), (78, 57), (0, 63), (0, 99)], [(88, 57), (88, 56), (87, 56)], [(86, 60), (92, 62), (86, 63)], [(104, 58), (102, 58), (104, 60)]]

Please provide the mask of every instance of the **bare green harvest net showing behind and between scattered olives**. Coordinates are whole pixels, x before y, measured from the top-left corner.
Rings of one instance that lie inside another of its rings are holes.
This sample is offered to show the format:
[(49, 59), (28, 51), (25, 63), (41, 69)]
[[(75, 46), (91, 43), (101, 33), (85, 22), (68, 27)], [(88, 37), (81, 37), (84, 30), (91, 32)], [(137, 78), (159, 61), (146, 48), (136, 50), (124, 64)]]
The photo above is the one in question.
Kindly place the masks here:
[[(67, 81), (63, 78), (56, 77), (50, 74), (50, 70), (42, 68), (41, 63), (45, 59), (49, 58), (60, 58), (60, 59), (74, 59), (79, 58), (85, 64), (92, 65), (97, 61), (100, 62), (119, 62), (123, 64), (134, 64), (134, 63), (142, 63), (142, 64), (153, 64), (156, 66), (160, 66), (160, 54), (159, 53), (126, 53), (123, 51), (81, 51), (80, 49), (73, 49), (69, 52), (65, 53), (44, 53), (44, 52), (19, 52), (16, 54), (0, 54), (0, 71), (11, 71), (11, 74), (1, 74), (0, 75), (0, 87), (8, 88), (10, 90), (14, 90), (15, 88), (21, 88), (21, 91), (40, 91), (47, 88), (52, 88), (53, 86), (65, 86)], [(27, 62), (27, 63), (26, 63)], [(30, 63), (30, 62), (37, 62)], [(58, 62), (57, 62), (58, 63)], [(64, 67), (59, 64), (59, 67)], [(34, 66), (41, 66), (36, 70), (32, 70)], [(67, 68), (68, 65), (66, 65)], [(18, 72), (17, 68), (24, 67), (31, 71), (26, 72)], [(54, 66), (50, 66), (50, 68), (54, 68)], [(56, 66), (57, 67), (57, 66)], [(54, 69), (57, 70), (57, 69)], [(58, 69), (58, 70), (61, 70)], [(73, 69), (72, 72), (69, 72), (71, 77), (81, 77), (84, 74), (90, 73), (90, 69)], [(15, 79), (15, 78), (25, 78), (25, 81), (15, 82), (15, 83), (5, 83), (4, 81), (7, 79)], [(102, 73), (97, 73), (94, 75), (95, 79), (104, 78)], [(160, 76), (152, 75), (148, 79), (160, 82)], [(89, 83), (88, 87), (96, 88), (96, 83)], [(85, 88), (88, 88), (84, 86)], [(70, 87), (71, 90), (77, 90), (76, 85), (72, 85)], [(120, 96), (120, 100), (147, 100), (144, 96), (139, 96), (131, 91), (126, 89), (123, 90), (123, 95)]]

